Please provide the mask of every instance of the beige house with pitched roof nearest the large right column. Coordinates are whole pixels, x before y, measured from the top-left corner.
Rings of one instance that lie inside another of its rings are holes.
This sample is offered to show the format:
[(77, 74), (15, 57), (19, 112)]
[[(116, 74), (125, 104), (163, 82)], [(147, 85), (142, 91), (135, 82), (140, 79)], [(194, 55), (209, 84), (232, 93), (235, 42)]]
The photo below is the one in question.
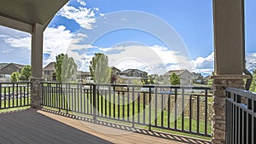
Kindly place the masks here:
[(193, 84), (193, 79), (195, 75), (188, 70), (171, 70), (169, 72), (166, 72), (164, 74), (164, 77), (170, 78), (172, 74), (175, 73), (180, 78), (180, 84), (181, 85), (191, 85)]

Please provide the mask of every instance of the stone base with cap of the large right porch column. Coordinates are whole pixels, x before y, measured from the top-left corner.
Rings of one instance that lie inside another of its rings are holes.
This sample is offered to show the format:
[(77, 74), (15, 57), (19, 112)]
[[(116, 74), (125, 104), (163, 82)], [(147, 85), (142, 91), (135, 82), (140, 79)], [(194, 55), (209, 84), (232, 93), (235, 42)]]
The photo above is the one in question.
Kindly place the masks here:
[(225, 143), (225, 87), (244, 89), (244, 75), (212, 76), (212, 144)]

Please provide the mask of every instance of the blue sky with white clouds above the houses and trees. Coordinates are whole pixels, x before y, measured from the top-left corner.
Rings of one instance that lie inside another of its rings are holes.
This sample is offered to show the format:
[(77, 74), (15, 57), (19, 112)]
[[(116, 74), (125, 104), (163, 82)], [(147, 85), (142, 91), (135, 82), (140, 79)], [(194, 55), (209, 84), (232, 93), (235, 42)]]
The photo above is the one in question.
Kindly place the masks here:
[[(247, 67), (256, 69), (256, 2), (246, 0)], [(213, 71), (212, 0), (71, 0), (44, 32), (44, 66), (67, 53), (89, 71), (97, 52), (121, 70)], [(31, 36), (0, 26), (0, 61), (30, 64)]]

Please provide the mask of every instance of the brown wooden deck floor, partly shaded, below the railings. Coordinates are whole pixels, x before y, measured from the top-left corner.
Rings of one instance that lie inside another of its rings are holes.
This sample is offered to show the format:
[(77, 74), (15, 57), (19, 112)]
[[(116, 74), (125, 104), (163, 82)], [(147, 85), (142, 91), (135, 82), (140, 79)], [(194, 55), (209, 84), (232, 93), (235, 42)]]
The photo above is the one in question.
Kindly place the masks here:
[(210, 143), (147, 130), (121, 130), (51, 112), (27, 109), (0, 114), (0, 143)]

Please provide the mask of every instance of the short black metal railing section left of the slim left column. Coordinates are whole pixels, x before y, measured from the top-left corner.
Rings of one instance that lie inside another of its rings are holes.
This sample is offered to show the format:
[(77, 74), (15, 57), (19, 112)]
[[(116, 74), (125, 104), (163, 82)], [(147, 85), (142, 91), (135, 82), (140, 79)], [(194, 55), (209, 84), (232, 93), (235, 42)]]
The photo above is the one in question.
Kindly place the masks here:
[(0, 109), (30, 106), (30, 83), (0, 83)]

